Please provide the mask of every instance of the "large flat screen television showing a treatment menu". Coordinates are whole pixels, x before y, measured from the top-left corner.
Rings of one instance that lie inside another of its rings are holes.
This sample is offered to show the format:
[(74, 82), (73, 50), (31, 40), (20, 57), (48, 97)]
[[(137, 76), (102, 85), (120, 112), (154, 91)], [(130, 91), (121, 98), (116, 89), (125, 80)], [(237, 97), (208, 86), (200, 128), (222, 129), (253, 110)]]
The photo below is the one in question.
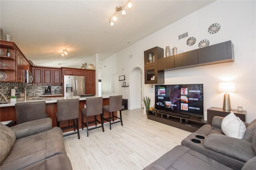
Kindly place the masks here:
[(196, 117), (204, 117), (203, 84), (155, 86), (155, 108)]

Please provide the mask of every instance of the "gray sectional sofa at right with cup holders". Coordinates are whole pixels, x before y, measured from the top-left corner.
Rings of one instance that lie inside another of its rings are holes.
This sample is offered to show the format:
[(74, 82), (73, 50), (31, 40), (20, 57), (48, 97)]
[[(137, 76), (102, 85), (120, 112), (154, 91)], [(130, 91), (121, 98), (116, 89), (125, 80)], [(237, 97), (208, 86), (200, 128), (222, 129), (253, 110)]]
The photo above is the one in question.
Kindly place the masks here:
[[(144, 169), (256, 170), (256, 119), (250, 124), (245, 123), (247, 129), (243, 139), (224, 135), (221, 130), (222, 120), (223, 117), (214, 117), (212, 126), (202, 126), (186, 137), (181, 145), (174, 147)], [(197, 143), (192, 139), (196, 139)]]

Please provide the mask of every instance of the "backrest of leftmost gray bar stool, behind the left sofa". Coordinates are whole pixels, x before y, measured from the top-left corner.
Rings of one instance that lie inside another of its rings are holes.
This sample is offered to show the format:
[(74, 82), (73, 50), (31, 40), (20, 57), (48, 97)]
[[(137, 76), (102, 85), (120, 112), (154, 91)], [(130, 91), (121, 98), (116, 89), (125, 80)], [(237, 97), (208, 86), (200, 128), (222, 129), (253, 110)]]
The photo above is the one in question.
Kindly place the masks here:
[(16, 103), (15, 110), (17, 124), (48, 117), (45, 101)]

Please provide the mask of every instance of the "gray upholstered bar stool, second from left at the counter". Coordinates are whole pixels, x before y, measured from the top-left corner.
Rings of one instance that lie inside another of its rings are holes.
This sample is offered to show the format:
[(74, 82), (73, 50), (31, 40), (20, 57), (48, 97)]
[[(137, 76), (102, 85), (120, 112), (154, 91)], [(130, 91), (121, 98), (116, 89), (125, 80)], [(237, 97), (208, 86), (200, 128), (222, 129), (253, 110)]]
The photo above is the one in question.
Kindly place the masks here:
[[(78, 125), (78, 115), (79, 115), (79, 99), (66, 99), (66, 100), (57, 100), (57, 113), (56, 121), (57, 126), (60, 127), (60, 121), (73, 120), (74, 125), (69, 127), (62, 127), (61, 129), (68, 129), (70, 127), (74, 128), (74, 133), (69, 133), (65, 136), (74, 135), (77, 133), (78, 139), (80, 139), (79, 134), (79, 125)], [(75, 123), (76, 119), (76, 123)], [(77, 132), (75, 132), (77, 129)]]

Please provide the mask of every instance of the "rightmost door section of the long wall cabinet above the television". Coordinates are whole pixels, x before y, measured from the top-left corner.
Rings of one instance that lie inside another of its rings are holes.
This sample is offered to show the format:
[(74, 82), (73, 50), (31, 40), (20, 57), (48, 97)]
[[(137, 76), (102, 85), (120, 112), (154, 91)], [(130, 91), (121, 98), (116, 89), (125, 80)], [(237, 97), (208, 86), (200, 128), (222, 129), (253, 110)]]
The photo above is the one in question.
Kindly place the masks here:
[(234, 45), (231, 41), (198, 49), (198, 64), (218, 64), (234, 61)]

